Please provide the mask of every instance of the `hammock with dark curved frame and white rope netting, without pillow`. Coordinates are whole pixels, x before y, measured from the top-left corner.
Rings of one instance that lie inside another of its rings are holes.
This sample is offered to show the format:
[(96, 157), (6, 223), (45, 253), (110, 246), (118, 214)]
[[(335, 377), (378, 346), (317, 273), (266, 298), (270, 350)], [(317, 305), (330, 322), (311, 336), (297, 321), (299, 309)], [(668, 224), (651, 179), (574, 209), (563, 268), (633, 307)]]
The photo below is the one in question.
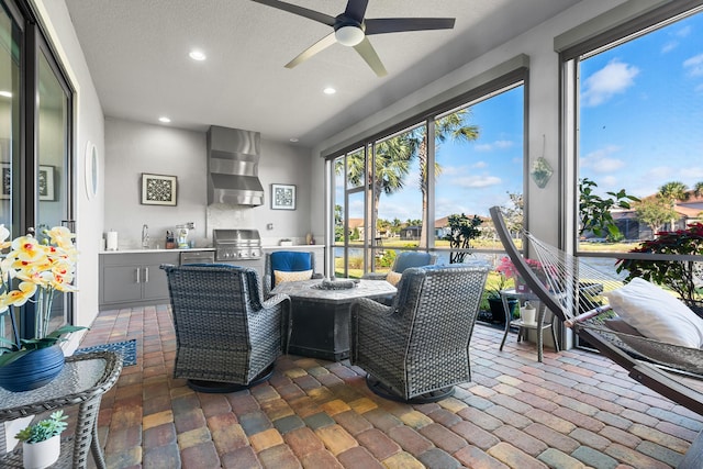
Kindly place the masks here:
[(617, 311), (602, 294), (623, 287), (622, 279), (523, 232), (531, 258), (542, 265), (536, 273), (515, 246), (501, 209), (493, 206), (490, 212), (515, 269), (547, 309), (633, 379), (703, 415), (702, 349), (647, 338), (632, 327), (623, 332), (617, 326)]

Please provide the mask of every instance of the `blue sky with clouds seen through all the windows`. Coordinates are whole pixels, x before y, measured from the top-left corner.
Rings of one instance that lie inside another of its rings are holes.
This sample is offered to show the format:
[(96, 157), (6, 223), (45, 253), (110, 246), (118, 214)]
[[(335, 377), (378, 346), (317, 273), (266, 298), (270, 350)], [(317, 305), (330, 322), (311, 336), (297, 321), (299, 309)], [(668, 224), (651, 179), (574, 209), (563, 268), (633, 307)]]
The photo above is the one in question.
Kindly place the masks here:
[[(582, 60), (580, 75), (580, 177), (638, 197), (703, 181), (703, 13)], [(436, 217), (488, 215), (507, 191), (523, 192), (523, 93), (476, 103), (468, 122), (479, 139), (442, 145)], [(532, 148), (533, 158), (542, 152)], [(421, 217), (416, 180), (414, 168), (405, 189), (382, 197), (381, 219)], [(350, 213), (362, 211), (353, 204)]]

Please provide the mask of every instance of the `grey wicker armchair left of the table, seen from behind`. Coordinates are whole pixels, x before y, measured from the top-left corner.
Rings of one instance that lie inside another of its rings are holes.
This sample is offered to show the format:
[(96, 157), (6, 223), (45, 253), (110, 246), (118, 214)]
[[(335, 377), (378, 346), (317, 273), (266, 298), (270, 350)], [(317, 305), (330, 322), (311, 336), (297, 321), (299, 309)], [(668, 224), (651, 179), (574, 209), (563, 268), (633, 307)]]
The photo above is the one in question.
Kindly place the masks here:
[(267, 379), (288, 346), (290, 298), (260, 299), (252, 268), (161, 266), (176, 328), (175, 378), (203, 392), (232, 392)]

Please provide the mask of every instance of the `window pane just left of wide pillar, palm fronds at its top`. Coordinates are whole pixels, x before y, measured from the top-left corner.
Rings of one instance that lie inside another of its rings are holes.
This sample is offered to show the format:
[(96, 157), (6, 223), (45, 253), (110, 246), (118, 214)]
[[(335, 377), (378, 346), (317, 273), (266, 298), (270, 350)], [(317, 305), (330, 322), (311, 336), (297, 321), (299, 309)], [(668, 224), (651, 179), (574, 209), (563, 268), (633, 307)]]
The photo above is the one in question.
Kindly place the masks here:
[[(524, 145), (524, 86), (500, 92), (435, 121), (436, 185), (435, 245), (448, 248), (449, 215), (483, 219), (487, 237), (472, 247), (501, 248), (488, 230), (489, 209), (512, 208), (511, 197), (522, 201)], [(522, 214), (522, 206), (521, 214)], [(448, 263), (448, 253), (439, 261)]]

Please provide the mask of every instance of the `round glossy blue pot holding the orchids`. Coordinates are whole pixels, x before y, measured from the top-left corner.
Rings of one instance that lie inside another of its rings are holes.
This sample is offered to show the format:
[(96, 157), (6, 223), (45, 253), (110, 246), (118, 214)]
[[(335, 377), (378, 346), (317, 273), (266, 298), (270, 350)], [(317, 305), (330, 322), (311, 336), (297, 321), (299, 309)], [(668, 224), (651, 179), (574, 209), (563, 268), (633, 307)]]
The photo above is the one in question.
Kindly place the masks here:
[(12, 392), (41, 388), (62, 372), (65, 362), (64, 351), (58, 344), (32, 350), (10, 365), (0, 367), (0, 387)]

